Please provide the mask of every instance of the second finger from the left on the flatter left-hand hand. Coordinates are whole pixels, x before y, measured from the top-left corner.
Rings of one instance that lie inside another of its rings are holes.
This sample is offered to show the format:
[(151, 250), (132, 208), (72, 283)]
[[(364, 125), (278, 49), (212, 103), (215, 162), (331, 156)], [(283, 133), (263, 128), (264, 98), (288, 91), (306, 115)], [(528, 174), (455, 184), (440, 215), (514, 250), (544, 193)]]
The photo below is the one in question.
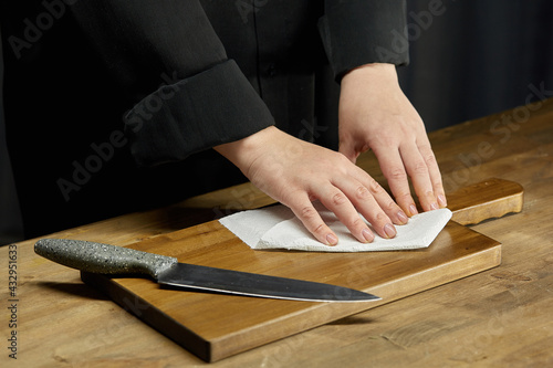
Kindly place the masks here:
[[(346, 225), (352, 235), (359, 242), (367, 243), (374, 240), (374, 234), (352, 204), (349, 198), (337, 187), (328, 183), (317, 187), (317, 198), (338, 220)], [(376, 203), (375, 203), (376, 204)]]

